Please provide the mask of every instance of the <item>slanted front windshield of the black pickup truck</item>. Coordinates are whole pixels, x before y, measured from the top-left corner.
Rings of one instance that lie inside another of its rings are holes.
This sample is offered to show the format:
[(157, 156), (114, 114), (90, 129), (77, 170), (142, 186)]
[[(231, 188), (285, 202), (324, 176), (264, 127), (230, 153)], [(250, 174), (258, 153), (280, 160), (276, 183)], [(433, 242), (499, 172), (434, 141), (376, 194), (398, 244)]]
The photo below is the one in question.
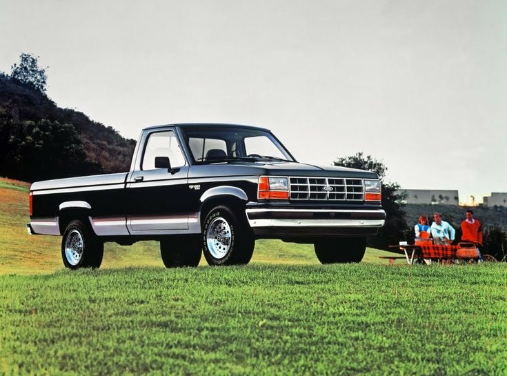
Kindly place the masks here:
[(265, 130), (241, 127), (182, 127), (185, 142), (197, 164), (222, 161), (294, 161), (279, 141)]

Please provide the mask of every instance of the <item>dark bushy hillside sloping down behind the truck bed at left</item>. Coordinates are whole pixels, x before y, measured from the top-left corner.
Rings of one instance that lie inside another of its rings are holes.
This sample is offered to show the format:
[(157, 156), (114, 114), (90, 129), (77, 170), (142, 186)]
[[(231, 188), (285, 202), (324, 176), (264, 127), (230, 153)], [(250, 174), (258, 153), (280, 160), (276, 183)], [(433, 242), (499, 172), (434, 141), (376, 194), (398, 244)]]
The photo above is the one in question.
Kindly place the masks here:
[(0, 73), (1, 175), (34, 181), (126, 171), (134, 147), (117, 130)]

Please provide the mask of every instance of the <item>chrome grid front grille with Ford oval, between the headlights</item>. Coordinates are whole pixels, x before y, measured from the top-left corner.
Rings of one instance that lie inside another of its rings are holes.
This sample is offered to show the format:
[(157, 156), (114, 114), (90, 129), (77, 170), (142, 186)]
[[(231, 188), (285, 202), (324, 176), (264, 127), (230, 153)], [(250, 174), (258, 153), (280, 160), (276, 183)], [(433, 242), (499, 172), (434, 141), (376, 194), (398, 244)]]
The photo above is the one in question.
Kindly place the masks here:
[(290, 199), (363, 201), (363, 179), (345, 177), (290, 177)]

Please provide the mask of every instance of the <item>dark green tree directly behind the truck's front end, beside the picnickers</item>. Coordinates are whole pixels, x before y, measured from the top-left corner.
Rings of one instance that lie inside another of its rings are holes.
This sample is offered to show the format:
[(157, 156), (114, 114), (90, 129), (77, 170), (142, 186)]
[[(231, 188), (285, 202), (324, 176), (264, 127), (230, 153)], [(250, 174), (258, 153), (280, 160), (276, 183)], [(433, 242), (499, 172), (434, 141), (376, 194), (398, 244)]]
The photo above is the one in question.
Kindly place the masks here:
[(382, 208), (386, 210), (386, 224), (379, 230), (379, 235), (368, 239), (368, 246), (388, 249), (389, 244), (398, 244), (406, 239), (408, 227), (405, 219), (405, 211), (401, 201), (406, 197), (405, 193), (399, 193), (399, 184), (385, 181), (388, 168), (381, 161), (364, 156), (362, 152), (350, 157), (341, 157), (334, 162), (335, 166), (359, 168), (377, 172), (382, 187)]

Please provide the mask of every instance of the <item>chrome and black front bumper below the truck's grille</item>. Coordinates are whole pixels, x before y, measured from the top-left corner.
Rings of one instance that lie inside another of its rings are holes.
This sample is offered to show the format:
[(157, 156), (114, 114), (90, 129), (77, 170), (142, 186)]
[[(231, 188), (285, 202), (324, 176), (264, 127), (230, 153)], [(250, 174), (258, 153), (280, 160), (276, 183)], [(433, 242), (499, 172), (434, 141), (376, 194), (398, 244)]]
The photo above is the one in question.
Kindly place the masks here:
[(247, 209), (246, 217), (259, 237), (365, 237), (384, 226), (381, 209)]

